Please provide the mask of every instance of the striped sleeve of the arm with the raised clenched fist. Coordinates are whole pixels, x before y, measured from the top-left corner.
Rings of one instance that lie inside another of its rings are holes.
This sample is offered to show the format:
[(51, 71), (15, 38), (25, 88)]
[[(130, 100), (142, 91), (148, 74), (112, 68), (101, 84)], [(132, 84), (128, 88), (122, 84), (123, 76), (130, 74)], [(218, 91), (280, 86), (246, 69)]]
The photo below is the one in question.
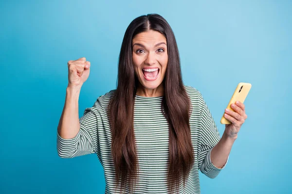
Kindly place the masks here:
[(73, 158), (91, 153), (100, 153), (98, 123), (101, 121), (100, 102), (97, 99), (91, 108), (86, 108), (79, 119), (80, 130), (74, 138), (64, 139), (57, 132), (57, 151), (61, 158)]

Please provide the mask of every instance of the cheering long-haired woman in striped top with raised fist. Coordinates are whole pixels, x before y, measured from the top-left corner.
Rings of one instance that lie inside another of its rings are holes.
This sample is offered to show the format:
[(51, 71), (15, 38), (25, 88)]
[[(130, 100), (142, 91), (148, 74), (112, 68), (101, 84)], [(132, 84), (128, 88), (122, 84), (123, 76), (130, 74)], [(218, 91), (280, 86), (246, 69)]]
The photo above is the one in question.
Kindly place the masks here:
[(95, 153), (106, 194), (199, 194), (199, 170), (215, 178), (228, 161), (244, 105), (226, 112), (232, 122), (220, 139), (201, 93), (183, 85), (175, 36), (150, 14), (128, 26), (119, 56), (118, 84), (78, 119), (78, 97), (90, 73), (85, 58), (68, 62), (69, 83), (57, 132), (62, 158)]

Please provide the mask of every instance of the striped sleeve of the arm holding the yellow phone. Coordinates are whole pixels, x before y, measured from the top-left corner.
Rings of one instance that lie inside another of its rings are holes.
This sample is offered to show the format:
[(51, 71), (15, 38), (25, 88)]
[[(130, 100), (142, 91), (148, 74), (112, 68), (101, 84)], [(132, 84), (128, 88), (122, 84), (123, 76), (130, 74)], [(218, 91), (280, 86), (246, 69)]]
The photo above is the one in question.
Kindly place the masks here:
[[(200, 103), (200, 116), (201, 116), (201, 140), (200, 146), (198, 146), (198, 157), (199, 157), (199, 169), (203, 174), (209, 178), (215, 178), (219, 172), (225, 167), (226, 163), (222, 168), (216, 167), (211, 162), (211, 151), (214, 146), (220, 140), (220, 134), (215, 121), (210, 113), (208, 106), (206, 105), (201, 93), (199, 95)], [(229, 158), (229, 157), (228, 157)]]

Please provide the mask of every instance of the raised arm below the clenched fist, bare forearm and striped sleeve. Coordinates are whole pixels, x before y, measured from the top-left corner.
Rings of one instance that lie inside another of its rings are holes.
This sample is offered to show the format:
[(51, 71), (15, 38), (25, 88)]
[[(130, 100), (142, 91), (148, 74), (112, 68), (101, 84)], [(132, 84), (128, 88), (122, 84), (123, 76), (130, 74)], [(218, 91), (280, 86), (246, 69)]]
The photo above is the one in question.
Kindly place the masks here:
[(80, 89), (67, 88), (65, 106), (57, 128), (57, 152), (61, 158), (97, 153), (99, 150), (98, 108), (87, 108), (79, 119), (79, 93)]

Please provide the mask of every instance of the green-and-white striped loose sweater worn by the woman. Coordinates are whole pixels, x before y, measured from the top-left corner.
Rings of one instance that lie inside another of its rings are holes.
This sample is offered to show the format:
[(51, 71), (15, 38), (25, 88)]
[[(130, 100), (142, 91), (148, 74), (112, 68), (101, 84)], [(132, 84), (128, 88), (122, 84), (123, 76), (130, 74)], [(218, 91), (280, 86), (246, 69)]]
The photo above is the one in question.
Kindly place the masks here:
[[(201, 93), (184, 86), (190, 97), (191, 141), (195, 162), (185, 187), (180, 184), (180, 194), (200, 194), (199, 170), (209, 178), (215, 178), (222, 168), (211, 162), (212, 148), (220, 139), (219, 131)], [(106, 194), (117, 194), (115, 171), (111, 156), (111, 130), (108, 104), (115, 90), (97, 98), (91, 108), (86, 108), (79, 119), (80, 130), (72, 139), (64, 139), (57, 132), (57, 151), (61, 158), (73, 158), (86, 154), (97, 154), (104, 168)], [(169, 155), (169, 129), (161, 111), (163, 97), (135, 96), (134, 134), (139, 165), (138, 187), (135, 194), (167, 194), (166, 177)], [(228, 159), (227, 159), (228, 161)], [(227, 162), (226, 162), (227, 163)]]

